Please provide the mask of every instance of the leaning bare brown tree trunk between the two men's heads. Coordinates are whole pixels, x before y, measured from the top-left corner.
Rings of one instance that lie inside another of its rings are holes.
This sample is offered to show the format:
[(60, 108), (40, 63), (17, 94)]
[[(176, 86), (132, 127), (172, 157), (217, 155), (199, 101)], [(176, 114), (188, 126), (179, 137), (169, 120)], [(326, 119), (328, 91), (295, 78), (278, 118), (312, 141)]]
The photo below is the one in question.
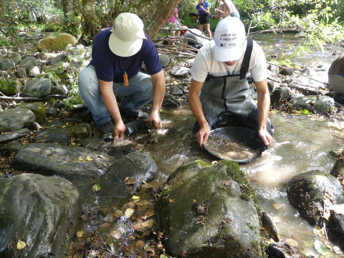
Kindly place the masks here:
[[(161, 1), (162, 2), (162, 1)], [(178, 6), (181, 0), (169, 0), (162, 8), (157, 8), (154, 13), (152, 23), (147, 28), (147, 35), (154, 39), (160, 28), (164, 25), (167, 19), (173, 14), (174, 9)]]

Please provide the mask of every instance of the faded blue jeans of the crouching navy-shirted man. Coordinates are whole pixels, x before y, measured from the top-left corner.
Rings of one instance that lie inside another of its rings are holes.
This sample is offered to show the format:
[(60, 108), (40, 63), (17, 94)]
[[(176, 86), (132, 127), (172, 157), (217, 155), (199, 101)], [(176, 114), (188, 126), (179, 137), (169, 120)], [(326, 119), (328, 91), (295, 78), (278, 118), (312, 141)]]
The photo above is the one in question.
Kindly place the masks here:
[[(78, 87), (97, 126), (110, 121), (111, 117), (103, 103), (94, 66), (89, 65), (80, 71)], [(148, 74), (138, 73), (133, 76), (129, 79), (129, 86), (124, 86), (124, 83), (113, 83), (113, 90), (115, 95), (128, 96), (122, 99), (121, 108), (131, 112), (139, 111), (153, 99), (153, 83)]]

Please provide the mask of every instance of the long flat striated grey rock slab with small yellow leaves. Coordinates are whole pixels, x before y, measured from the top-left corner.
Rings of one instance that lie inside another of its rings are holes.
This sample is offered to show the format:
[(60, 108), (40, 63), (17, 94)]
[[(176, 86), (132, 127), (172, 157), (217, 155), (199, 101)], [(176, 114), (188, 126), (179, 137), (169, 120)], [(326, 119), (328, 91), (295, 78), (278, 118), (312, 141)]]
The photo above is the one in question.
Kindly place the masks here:
[[(84, 160), (86, 157), (92, 160)], [(70, 181), (73, 181), (74, 177), (82, 177), (88, 179), (88, 182), (84, 180), (87, 184), (101, 176), (113, 161), (114, 158), (105, 153), (90, 151), (83, 147), (30, 143), (14, 155), (12, 166), (36, 173), (61, 175)]]

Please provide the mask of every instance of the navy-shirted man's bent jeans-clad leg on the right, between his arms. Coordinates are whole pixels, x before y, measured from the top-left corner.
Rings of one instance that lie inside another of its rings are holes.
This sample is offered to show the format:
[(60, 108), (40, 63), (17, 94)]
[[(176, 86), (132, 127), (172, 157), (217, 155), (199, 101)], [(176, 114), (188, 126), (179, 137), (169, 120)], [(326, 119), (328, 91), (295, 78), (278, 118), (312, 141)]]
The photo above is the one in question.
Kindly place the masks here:
[(128, 96), (121, 101), (121, 109), (138, 112), (153, 99), (153, 82), (148, 74), (138, 73), (129, 79), (129, 86), (114, 83), (114, 94)]

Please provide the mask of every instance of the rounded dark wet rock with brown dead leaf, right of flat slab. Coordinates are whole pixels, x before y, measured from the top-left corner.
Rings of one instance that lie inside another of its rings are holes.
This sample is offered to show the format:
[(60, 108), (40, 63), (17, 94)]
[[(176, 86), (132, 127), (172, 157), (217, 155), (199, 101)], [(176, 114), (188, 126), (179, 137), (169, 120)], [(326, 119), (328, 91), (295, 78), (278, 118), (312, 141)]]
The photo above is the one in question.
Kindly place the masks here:
[[(136, 192), (142, 181), (150, 182), (157, 175), (158, 166), (147, 153), (132, 152), (114, 162), (106, 173), (98, 180), (99, 196), (128, 196)], [(135, 180), (134, 184), (126, 185), (125, 178)]]

